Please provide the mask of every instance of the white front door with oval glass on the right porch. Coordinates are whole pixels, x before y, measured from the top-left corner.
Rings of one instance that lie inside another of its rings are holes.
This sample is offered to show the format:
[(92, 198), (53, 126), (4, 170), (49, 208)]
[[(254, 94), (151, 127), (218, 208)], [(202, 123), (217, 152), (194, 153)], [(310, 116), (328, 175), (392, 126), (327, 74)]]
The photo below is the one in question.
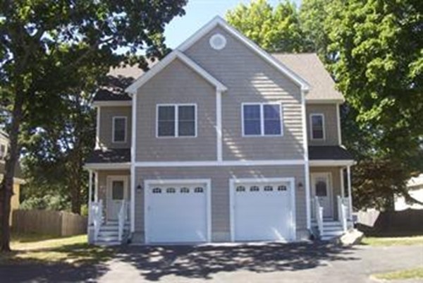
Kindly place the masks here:
[(312, 193), (319, 198), (323, 217), (333, 218), (331, 174), (312, 173)]

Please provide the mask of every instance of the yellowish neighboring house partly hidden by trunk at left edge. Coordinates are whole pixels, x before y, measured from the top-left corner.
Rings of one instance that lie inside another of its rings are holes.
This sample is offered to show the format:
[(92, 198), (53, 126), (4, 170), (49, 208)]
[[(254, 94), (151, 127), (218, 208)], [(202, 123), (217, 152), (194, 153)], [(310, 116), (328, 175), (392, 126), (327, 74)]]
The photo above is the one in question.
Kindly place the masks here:
[[(2, 181), (4, 177), (4, 159), (6, 158), (7, 150), (8, 135), (4, 131), (0, 130), (0, 181)], [(11, 199), (11, 211), (17, 210), (19, 208), (20, 185), (25, 183), (21, 175), (22, 174), (20, 172), (20, 166), (18, 164), (15, 169), (15, 178), (13, 178), (13, 196)], [(10, 223), (12, 224), (12, 213)]]

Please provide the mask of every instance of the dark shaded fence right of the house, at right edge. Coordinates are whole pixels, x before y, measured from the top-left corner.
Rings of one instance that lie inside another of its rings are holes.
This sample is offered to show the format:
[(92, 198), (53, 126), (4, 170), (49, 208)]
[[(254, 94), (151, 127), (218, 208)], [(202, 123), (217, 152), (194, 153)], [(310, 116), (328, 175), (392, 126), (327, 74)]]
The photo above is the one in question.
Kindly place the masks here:
[(423, 210), (360, 211), (357, 228), (368, 236), (423, 235)]

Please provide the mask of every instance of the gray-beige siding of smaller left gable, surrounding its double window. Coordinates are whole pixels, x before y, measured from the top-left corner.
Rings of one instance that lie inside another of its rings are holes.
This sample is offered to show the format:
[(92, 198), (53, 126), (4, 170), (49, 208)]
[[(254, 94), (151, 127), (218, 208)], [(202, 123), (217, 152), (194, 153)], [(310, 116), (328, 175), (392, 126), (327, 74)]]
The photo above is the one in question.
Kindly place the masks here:
[[(197, 137), (157, 138), (157, 104), (197, 104)], [(137, 162), (216, 160), (216, 90), (176, 59), (138, 90)]]

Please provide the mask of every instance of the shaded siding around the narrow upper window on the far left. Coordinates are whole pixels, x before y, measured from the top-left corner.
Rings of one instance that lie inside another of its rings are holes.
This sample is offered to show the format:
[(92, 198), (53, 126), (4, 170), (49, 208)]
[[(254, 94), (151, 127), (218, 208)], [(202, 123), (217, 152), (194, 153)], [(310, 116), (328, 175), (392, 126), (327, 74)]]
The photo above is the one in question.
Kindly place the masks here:
[[(98, 111), (98, 110), (97, 110)], [(132, 109), (130, 106), (123, 107), (100, 107), (99, 142), (107, 148), (130, 148), (132, 129)], [(126, 142), (113, 143), (113, 117), (126, 117)]]

